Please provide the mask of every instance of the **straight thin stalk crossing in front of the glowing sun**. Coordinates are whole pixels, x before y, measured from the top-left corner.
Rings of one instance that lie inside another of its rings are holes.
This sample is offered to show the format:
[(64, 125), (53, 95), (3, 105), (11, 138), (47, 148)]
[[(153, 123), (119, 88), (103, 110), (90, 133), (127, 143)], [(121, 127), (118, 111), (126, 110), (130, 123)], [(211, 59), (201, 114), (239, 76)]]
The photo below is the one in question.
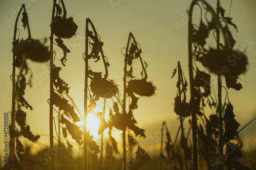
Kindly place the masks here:
[(87, 120), (87, 114), (88, 114), (88, 109), (87, 109), (87, 96), (88, 96), (88, 23), (89, 23), (89, 18), (86, 19), (86, 52), (85, 52), (85, 78), (84, 78), (84, 104), (83, 104), (83, 109), (84, 109), (84, 119), (83, 119), (83, 170), (88, 169), (88, 150), (87, 150), (87, 127), (86, 127), (86, 120)]

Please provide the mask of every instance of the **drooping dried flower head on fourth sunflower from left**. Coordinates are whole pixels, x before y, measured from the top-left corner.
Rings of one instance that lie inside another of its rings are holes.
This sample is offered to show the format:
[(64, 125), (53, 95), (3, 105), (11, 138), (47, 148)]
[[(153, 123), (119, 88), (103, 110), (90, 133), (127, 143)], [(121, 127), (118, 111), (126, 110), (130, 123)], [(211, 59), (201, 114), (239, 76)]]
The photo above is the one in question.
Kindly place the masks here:
[(142, 80), (131, 80), (128, 82), (127, 91), (128, 93), (135, 92), (140, 96), (152, 96), (155, 94), (156, 87), (152, 82), (147, 82), (145, 79)]

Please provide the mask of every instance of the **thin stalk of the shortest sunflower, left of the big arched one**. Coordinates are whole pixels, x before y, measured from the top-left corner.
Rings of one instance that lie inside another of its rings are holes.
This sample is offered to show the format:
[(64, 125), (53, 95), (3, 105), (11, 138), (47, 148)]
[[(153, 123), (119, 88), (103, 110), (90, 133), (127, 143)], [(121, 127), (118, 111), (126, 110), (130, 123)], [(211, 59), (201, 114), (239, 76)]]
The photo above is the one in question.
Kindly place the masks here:
[[(179, 61), (178, 61), (178, 82), (181, 82), (182, 89), (184, 89), (182, 70), (181, 70), (181, 65), (180, 65)], [(179, 83), (179, 86), (178, 86), (178, 91), (179, 91), (179, 95), (181, 96), (182, 90), (180, 89), (180, 83)], [(183, 100), (186, 101), (186, 93), (185, 93), (185, 91), (183, 91), (183, 94), (184, 94), (184, 99)], [(181, 102), (181, 98), (180, 98), (180, 102)], [(180, 116), (180, 127), (181, 127), (181, 139), (184, 139), (185, 136), (184, 136), (183, 117), (182, 116)], [(183, 155), (184, 155), (185, 167), (186, 167), (186, 170), (188, 170), (187, 158), (186, 158), (186, 155), (185, 155), (184, 148), (183, 148)]]

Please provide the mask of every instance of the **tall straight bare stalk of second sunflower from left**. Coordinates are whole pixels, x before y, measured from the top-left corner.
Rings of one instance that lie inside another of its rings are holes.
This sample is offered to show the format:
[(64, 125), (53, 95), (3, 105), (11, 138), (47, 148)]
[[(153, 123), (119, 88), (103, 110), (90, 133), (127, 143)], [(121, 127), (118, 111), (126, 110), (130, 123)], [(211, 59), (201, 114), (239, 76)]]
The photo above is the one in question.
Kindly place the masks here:
[[(53, 9), (52, 9), (52, 20), (54, 18), (55, 14), (55, 7), (56, 7), (56, 0), (53, 1)], [(54, 142), (53, 142), (53, 82), (54, 77), (51, 74), (53, 69), (53, 33), (51, 31), (51, 37), (50, 37), (50, 114), (49, 114), (49, 126), (50, 126), (50, 151), (49, 153), (52, 153), (54, 151)], [(55, 163), (54, 163), (54, 157), (50, 155), (50, 164), (51, 164), (51, 170), (55, 169)]]

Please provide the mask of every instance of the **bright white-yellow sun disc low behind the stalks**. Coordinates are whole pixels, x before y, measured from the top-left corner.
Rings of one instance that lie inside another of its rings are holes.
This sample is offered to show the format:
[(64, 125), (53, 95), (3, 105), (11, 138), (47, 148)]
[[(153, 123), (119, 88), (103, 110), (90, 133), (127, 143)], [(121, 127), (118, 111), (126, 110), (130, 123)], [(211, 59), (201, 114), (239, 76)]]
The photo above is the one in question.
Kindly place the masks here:
[(86, 127), (90, 135), (93, 135), (93, 137), (98, 136), (99, 119), (94, 114), (88, 113)]

